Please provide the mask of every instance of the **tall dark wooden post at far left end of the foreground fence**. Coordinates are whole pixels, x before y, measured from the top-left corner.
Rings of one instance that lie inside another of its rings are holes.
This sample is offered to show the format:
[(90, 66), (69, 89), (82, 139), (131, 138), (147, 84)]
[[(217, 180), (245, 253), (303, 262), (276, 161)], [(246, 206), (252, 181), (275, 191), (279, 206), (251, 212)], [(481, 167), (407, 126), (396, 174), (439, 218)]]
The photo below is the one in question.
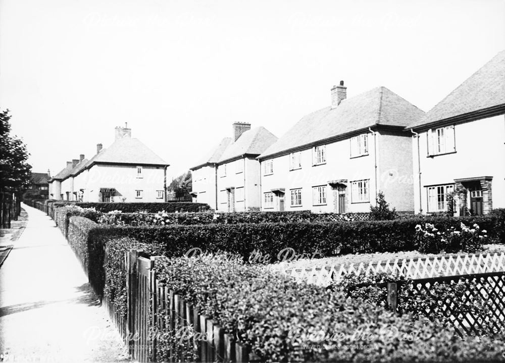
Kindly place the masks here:
[(137, 294), (137, 257), (138, 251), (130, 249), (126, 252), (126, 288), (127, 288), (127, 313), (126, 313), (126, 344), (128, 352), (133, 354), (135, 339), (135, 297)]

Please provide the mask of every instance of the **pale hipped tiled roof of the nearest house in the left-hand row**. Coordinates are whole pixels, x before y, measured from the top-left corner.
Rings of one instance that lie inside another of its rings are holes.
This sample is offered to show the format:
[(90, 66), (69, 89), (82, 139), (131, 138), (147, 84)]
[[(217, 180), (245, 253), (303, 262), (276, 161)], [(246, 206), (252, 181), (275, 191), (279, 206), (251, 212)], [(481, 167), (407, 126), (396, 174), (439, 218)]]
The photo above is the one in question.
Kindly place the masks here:
[(131, 137), (117, 139), (107, 149), (102, 149), (89, 162), (167, 165), (167, 163), (145, 146), (140, 140)]

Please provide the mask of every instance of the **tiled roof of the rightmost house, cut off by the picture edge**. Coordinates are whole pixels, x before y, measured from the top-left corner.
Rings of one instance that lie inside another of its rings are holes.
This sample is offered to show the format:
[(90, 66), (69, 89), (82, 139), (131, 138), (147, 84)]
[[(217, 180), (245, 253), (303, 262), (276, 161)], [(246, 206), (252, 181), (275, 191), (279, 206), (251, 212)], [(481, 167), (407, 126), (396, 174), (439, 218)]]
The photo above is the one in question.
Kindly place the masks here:
[(409, 127), (416, 127), (451, 117), (505, 104), (505, 50), (487, 62), (465, 82), (450, 92)]

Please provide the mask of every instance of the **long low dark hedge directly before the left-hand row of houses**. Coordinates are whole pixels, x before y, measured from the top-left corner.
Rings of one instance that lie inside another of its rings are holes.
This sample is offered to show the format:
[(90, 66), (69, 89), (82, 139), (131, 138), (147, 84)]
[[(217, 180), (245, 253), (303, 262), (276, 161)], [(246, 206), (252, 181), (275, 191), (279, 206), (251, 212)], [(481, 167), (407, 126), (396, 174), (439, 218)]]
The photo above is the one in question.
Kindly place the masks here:
[(65, 205), (77, 205), (81, 208), (94, 208), (98, 212), (122, 211), (125, 213), (148, 212), (156, 213), (166, 211), (174, 212), (204, 212), (211, 208), (209, 204), (192, 202), (163, 202), (163, 203), (86, 203), (86, 202), (67, 202), (60, 201), (54, 204), (54, 207)]

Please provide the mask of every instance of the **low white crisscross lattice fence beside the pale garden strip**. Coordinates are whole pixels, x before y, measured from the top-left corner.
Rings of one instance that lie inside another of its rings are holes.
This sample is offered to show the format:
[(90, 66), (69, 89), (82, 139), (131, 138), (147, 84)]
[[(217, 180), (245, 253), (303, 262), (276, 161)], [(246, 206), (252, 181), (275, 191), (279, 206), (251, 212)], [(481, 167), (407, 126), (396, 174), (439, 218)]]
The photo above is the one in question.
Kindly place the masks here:
[(338, 280), (346, 274), (371, 275), (384, 272), (405, 276), (408, 279), (425, 279), (505, 271), (505, 253), (450, 255), (413, 258), (412, 260), (396, 259), (370, 262), (368, 265), (363, 263), (359, 265), (331, 264), (299, 269), (273, 265), (271, 268), (293, 277), (296, 281), (327, 286), (332, 280)]

